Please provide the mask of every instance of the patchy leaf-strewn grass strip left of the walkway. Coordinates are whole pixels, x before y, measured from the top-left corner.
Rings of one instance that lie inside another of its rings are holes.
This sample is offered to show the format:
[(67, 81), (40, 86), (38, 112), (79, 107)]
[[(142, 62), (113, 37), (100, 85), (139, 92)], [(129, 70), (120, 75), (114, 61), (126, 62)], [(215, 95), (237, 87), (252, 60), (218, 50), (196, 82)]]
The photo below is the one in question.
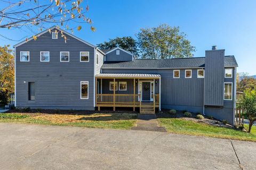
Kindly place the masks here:
[(0, 123), (26, 123), (60, 126), (77, 126), (87, 128), (113, 128), (131, 129), (137, 122), (137, 114), (88, 114), (88, 115), (63, 115), (63, 114), (0, 114)]

